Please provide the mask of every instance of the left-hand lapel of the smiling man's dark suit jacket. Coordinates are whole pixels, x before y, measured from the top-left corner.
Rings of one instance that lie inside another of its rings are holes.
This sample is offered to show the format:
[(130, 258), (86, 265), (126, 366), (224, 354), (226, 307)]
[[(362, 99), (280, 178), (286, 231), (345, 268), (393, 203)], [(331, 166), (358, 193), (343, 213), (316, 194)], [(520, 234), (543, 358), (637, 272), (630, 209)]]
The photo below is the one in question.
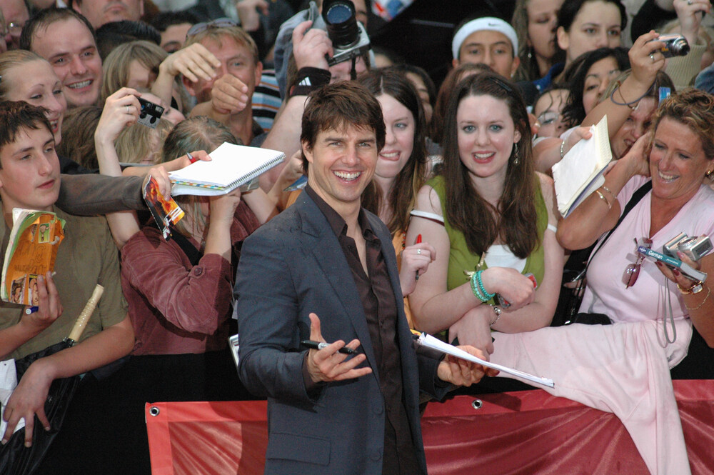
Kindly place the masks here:
[[(311, 251), (320, 270), (332, 286), (333, 293), (342, 304), (344, 314), (352, 324), (370, 366), (377, 368), (364, 307), (359, 299), (352, 270), (347, 264), (337, 236), (308, 194), (301, 193), (293, 206), (298, 206), (301, 215), (303, 246)], [(377, 372), (374, 371), (375, 376)]]

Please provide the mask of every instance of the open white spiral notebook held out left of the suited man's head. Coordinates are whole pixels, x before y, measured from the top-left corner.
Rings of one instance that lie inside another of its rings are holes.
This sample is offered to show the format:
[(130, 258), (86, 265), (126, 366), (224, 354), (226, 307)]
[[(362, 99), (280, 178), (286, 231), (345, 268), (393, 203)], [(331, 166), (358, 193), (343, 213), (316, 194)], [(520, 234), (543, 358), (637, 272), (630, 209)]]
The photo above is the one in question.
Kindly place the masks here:
[(281, 151), (226, 143), (209, 155), (211, 161), (196, 161), (169, 174), (171, 195), (227, 194), (285, 159)]

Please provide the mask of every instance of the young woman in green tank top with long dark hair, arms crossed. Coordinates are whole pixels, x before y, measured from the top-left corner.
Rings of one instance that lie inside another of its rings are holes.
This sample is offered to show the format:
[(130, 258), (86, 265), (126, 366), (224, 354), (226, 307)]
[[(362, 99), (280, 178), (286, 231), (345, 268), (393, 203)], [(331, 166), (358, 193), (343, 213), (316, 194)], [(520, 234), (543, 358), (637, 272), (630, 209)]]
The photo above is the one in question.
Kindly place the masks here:
[(502, 76), (461, 81), (444, 126), (443, 174), (419, 191), (407, 235), (421, 234), (436, 260), (409, 301), (418, 329), (491, 353), (491, 329), (553, 319), (563, 271), (553, 181), (534, 170), (526, 106)]

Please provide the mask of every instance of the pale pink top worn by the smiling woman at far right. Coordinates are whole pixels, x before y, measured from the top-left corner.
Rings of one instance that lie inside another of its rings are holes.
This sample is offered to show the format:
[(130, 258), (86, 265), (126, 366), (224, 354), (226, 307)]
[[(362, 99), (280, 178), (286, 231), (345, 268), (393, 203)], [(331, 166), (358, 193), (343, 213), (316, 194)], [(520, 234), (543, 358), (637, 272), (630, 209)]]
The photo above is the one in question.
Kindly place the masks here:
[[(621, 209), (647, 180), (643, 176), (636, 176), (625, 185), (618, 195)], [(654, 262), (643, 262), (640, 275), (630, 289), (625, 289), (622, 282), (623, 271), (637, 259), (637, 246), (633, 239), (650, 235), (651, 196), (650, 192), (643, 197), (593, 257), (588, 267), (588, 286), (580, 311), (605, 314), (615, 321), (663, 319), (667, 309), (666, 288), (670, 293), (675, 318), (688, 315), (677, 287), (671, 282), (667, 284), (668, 281)], [(714, 235), (713, 209), (714, 191), (703, 185), (668, 224), (650, 236), (653, 240), (652, 249), (661, 251), (662, 246), (680, 232), (689, 236)]]

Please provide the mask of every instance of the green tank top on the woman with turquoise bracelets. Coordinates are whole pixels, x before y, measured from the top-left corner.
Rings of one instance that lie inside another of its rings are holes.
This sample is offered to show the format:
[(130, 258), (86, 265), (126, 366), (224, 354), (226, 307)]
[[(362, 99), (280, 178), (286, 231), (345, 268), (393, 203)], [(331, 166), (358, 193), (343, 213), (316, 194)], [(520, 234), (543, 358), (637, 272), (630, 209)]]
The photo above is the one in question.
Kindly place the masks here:
[[(478, 266), (481, 261), (481, 256), (475, 256), (471, 254), (466, 246), (466, 238), (463, 236), (461, 231), (453, 229), (451, 224), (448, 222), (446, 217), (446, 210), (444, 209), (444, 204), (446, 204), (446, 186), (444, 183), (443, 176), (436, 176), (433, 179), (426, 182), (431, 186), (441, 201), (441, 214), (444, 218), (444, 227), (446, 228), (446, 233), (448, 234), (448, 239), (450, 243), (449, 256), (448, 256), (448, 274), (447, 274), (447, 288), (448, 290), (455, 289), (456, 287), (468, 282), (468, 277), (463, 274), (463, 271), (476, 271), (487, 269), (486, 262), (484, 262), (480, 267)], [(538, 236), (540, 240), (538, 242), (538, 247), (535, 251), (531, 252), (526, 258), (526, 267), (523, 269), (523, 274), (528, 274), (531, 272), (535, 276), (535, 280), (540, 284), (543, 281), (543, 275), (545, 274), (545, 253), (543, 251), (543, 233), (548, 227), (548, 209), (545, 207), (545, 200), (543, 199), (543, 194), (540, 193), (540, 184), (536, 188), (535, 193), (535, 216), (538, 220)], [(494, 302), (491, 301), (493, 304)]]

